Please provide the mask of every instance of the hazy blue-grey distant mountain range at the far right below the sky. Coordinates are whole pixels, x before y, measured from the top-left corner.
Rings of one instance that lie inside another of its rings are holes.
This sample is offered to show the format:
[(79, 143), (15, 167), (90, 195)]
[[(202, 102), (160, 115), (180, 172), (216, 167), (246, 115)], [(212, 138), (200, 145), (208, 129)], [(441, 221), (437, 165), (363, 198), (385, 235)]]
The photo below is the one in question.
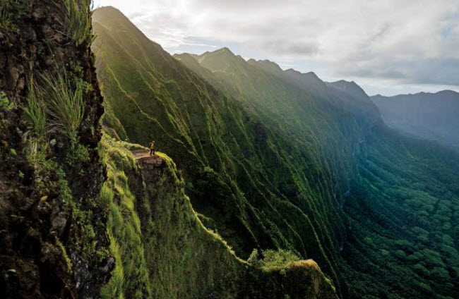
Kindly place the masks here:
[(459, 148), (459, 93), (451, 90), (371, 97), (393, 128)]

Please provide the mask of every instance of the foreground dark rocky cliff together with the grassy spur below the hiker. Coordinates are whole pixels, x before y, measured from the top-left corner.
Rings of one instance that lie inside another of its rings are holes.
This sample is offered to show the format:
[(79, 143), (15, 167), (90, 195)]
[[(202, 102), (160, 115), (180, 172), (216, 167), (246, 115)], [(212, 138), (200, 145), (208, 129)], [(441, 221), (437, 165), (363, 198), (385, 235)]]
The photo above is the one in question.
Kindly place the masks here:
[(88, 8), (1, 2), (0, 297), (337, 298), (311, 260), (240, 260), (165, 155), (100, 144)]

